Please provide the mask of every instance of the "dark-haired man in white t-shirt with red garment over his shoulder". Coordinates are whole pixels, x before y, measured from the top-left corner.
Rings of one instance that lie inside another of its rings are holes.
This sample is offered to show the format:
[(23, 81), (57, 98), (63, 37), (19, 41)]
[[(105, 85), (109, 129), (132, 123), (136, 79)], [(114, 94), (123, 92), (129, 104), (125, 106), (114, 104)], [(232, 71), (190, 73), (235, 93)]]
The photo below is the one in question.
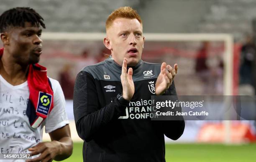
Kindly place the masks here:
[[(28, 162), (64, 160), (73, 149), (59, 82), (38, 64), (43, 20), (29, 7), (0, 16), (0, 153), (30, 154)], [(51, 142), (42, 142), (44, 126)]]

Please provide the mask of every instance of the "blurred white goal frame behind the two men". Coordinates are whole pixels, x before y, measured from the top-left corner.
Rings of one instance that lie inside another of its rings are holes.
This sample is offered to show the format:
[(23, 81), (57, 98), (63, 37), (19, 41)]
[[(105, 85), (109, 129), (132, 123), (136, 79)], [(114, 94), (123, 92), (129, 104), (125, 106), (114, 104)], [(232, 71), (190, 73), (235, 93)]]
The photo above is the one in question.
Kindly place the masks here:
[[(146, 42), (149, 41), (223, 41), (224, 42), (224, 74), (223, 95), (233, 95), (233, 47), (234, 40), (231, 34), (209, 33), (144, 33)], [(42, 40), (102, 40), (105, 33), (86, 32), (43, 32)], [(103, 43), (103, 42), (102, 42)], [(225, 123), (225, 143), (230, 143), (230, 121)], [(74, 128), (75, 129), (75, 128)], [(73, 131), (72, 131), (73, 132)], [(74, 137), (74, 136), (73, 136)]]

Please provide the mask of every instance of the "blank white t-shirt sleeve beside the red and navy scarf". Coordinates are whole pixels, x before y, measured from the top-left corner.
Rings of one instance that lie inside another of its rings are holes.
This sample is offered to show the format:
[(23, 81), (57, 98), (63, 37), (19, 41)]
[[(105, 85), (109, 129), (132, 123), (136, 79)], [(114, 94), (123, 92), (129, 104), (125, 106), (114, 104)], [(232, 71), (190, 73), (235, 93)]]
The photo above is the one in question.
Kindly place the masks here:
[(65, 97), (61, 86), (57, 80), (50, 78), (50, 81), (54, 91), (54, 107), (45, 121), (46, 133), (52, 132), (69, 124), (65, 110)]

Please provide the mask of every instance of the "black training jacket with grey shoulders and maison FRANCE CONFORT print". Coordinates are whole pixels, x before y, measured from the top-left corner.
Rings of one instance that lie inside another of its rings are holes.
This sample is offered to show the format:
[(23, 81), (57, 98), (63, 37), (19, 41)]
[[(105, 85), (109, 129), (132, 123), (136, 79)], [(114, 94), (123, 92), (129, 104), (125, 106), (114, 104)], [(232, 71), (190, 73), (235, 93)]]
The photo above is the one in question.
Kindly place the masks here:
[[(177, 140), (184, 120), (152, 121), (151, 95), (160, 64), (140, 60), (133, 68), (135, 93), (120, 98), (121, 68), (112, 57), (85, 67), (74, 87), (74, 118), (84, 140), (84, 162), (165, 162), (164, 135)], [(128, 68), (127, 68), (128, 69)], [(177, 95), (174, 82), (164, 95)]]

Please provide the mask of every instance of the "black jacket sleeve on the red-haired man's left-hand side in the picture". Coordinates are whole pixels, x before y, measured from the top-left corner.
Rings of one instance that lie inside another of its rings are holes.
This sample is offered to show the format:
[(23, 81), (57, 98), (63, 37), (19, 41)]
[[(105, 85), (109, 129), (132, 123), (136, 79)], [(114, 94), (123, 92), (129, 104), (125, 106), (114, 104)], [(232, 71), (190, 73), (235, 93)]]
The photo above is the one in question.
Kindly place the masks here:
[[(118, 119), (129, 101), (113, 99), (100, 107), (95, 80), (88, 72), (78, 73), (74, 85), (74, 119), (80, 138), (89, 142), (108, 122)], [(104, 132), (103, 132), (104, 133)]]

